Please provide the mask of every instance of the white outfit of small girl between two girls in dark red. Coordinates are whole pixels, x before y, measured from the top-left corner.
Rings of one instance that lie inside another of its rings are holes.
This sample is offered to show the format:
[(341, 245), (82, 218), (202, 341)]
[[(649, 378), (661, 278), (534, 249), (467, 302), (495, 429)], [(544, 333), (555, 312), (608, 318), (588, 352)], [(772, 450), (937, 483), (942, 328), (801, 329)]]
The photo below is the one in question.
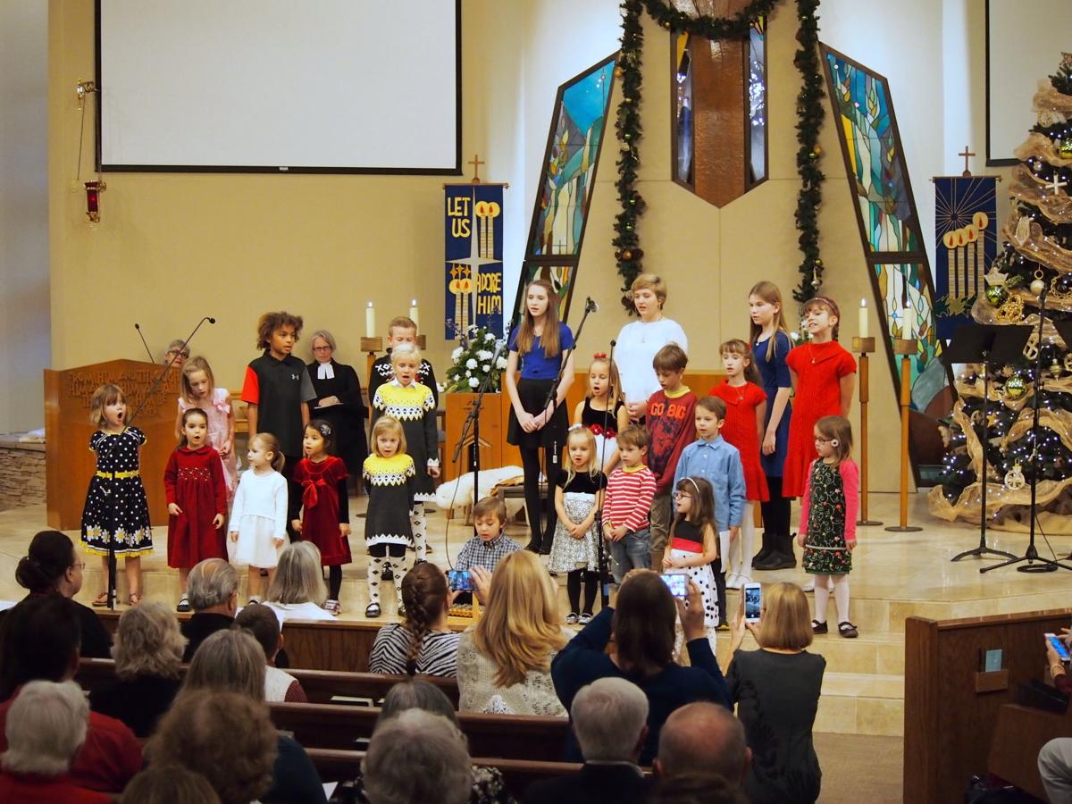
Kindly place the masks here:
[[(281, 474), (273, 471), (258, 475), (253, 470), (242, 473), (227, 525), (228, 534), (235, 531), (235, 564), (263, 568), (279, 564), (286, 546), (286, 479)], [(276, 539), (283, 540), (279, 547)]]

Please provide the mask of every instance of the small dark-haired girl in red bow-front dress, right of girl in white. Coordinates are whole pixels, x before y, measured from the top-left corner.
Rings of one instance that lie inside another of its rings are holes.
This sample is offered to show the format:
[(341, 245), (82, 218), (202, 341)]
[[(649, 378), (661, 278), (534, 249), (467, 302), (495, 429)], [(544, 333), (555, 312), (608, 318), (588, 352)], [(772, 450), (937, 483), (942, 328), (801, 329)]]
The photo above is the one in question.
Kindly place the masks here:
[(340, 612), (342, 565), (349, 564), (349, 494), (346, 463), (331, 455), (334, 428), (324, 419), (306, 425), (301, 448), (306, 457), (294, 468), (294, 482), (301, 488), (301, 519), (291, 522), (303, 541), (312, 541), (328, 568), (328, 599), (324, 608)]

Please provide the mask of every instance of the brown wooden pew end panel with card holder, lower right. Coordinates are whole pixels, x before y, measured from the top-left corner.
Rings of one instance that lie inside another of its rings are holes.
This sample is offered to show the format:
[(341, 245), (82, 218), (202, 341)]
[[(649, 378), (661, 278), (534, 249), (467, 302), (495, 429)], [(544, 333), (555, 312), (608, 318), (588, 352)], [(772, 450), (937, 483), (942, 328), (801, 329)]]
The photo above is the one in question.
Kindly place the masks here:
[[(905, 621), (905, 801), (963, 799), (966, 779), (988, 770), (1001, 708), (1021, 684), (1043, 678), (1042, 635), (1059, 634), (1070, 615), (1058, 609)], [(1000, 676), (980, 672), (981, 652), (994, 649), (1003, 651)]]

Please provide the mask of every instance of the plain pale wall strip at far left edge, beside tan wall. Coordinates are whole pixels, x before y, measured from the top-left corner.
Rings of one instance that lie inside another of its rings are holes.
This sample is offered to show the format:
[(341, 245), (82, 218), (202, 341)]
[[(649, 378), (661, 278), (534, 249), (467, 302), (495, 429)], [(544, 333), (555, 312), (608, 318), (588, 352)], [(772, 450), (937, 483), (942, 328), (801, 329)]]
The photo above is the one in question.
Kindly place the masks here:
[(0, 0), (0, 433), (44, 425), (47, 5)]

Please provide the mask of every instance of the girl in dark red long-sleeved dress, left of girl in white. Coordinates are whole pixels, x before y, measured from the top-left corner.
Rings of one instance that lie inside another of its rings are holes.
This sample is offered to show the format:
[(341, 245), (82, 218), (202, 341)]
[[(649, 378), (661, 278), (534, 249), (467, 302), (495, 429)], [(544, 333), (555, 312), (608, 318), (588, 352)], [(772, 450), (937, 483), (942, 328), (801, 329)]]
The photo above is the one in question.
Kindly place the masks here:
[(220, 453), (207, 444), (206, 413), (188, 407), (181, 421), (182, 437), (164, 470), (169, 515), (167, 566), (179, 570), (181, 596), (177, 609), (190, 611), (190, 570), (205, 559), (227, 559), (227, 539), (222, 530), (227, 518), (227, 487)]

